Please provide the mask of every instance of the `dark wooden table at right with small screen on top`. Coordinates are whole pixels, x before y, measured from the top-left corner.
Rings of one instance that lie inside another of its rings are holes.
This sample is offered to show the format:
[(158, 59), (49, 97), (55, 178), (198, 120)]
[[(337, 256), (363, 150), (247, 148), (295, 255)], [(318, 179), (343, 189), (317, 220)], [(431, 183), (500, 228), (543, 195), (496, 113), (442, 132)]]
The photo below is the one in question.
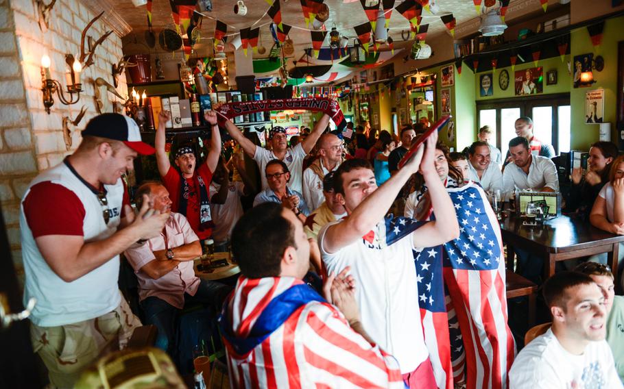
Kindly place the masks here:
[(525, 218), (512, 214), (501, 221), (503, 242), (507, 243), (507, 266), (513, 263), (513, 247), (544, 258), (544, 276), (555, 274), (555, 262), (608, 253), (608, 264), (618, 279), (619, 244), (624, 236), (610, 234), (568, 216), (557, 216), (543, 225), (523, 225)]

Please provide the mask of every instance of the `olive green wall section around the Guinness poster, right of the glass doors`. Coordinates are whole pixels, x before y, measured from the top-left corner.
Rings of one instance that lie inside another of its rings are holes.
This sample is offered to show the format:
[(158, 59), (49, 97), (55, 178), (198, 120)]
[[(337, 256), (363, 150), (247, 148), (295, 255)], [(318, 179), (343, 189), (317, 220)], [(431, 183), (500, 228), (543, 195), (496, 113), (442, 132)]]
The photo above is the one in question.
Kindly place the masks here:
[(598, 125), (585, 124), (585, 92), (588, 90), (604, 89), (604, 116), (603, 121), (611, 123), (611, 139), (617, 141), (615, 120), (617, 105), (617, 53), (618, 42), (624, 40), (624, 16), (611, 18), (605, 22), (602, 43), (596, 49), (592, 46), (586, 27), (575, 29), (571, 33), (571, 58), (574, 55), (594, 53), (594, 57), (602, 55), (605, 60), (603, 71), (593, 71), (597, 81), (589, 88), (573, 88), (569, 83), (570, 103), (572, 105), (572, 136), (573, 149), (586, 150), (588, 145), (598, 140)]

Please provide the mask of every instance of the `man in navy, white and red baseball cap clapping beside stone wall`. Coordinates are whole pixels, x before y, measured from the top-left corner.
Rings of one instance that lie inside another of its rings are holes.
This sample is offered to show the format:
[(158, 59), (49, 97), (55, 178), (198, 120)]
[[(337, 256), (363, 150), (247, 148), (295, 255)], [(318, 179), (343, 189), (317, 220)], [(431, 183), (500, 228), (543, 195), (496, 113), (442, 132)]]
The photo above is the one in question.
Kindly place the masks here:
[(74, 153), (38, 175), (22, 200), (24, 301), (37, 300), (31, 340), (58, 388), (73, 388), (108, 342), (125, 347), (141, 325), (117, 286), (119, 253), (158, 235), (169, 213), (145, 201), (134, 216), (121, 175), (139, 153), (154, 148), (131, 118), (95, 116)]

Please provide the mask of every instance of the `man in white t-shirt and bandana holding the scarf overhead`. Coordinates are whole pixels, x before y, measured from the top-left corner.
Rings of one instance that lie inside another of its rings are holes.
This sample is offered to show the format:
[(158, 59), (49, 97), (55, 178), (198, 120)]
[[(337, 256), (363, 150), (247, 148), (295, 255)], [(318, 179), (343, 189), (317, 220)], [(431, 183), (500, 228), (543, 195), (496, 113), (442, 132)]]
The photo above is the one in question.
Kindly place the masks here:
[(241, 132), (239, 127), (234, 125), (230, 120), (226, 121), (226, 129), (230, 136), (243, 147), (243, 151), (258, 164), (258, 168), (261, 171), (261, 190), (269, 188), (267, 177), (264, 175), (267, 163), (272, 160), (280, 160), (288, 166), (288, 170), (291, 173), (290, 187), (297, 192), (301, 192), (303, 160), (312, 150), (328, 124), (329, 115), (323, 114), (320, 120), (314, 125), (311, 134), (300, 144), (290, 148), (288, 147), (286, 130), (284, 127), (276, 125), (269, 131), (269, 145), (271, 145), (272, 150), (263, 149), (262, 147), (254, 145), (251, 140), (245, 138), (245, 135)]

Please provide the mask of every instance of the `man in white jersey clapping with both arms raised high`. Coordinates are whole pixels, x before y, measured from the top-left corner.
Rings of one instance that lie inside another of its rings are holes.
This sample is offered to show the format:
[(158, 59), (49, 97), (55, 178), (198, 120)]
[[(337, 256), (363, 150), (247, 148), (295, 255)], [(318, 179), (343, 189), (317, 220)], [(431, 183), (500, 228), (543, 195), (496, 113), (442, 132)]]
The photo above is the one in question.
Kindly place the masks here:
[[(420, 327), (412, 249), (442, 244), (459, 236), (455, 208), (433, 164), (436, 140), (434, 133), (427, 139), (424, 155), (420, 147), (379, 188), (368, 161), (354, 159), (341, 164), (334, 177), (335, 191), (348, 216), (329, 223), (319, 234), (328, 272), (339, 273), (350, 266), (360, 286), (356, 295), (366, 331), (375, 342), (392, 350), (406, 384), (419, 388), (435, 387), (435, 378)], [(385, 219), (396, 194), (419, 168), (432, 194), (436, 221)], [(412, 233), (415, 229), (418, 232)], [(409, 232), (400, 236), (401, 231)], [(390, 236), (397, 238), (390, 240)]]

